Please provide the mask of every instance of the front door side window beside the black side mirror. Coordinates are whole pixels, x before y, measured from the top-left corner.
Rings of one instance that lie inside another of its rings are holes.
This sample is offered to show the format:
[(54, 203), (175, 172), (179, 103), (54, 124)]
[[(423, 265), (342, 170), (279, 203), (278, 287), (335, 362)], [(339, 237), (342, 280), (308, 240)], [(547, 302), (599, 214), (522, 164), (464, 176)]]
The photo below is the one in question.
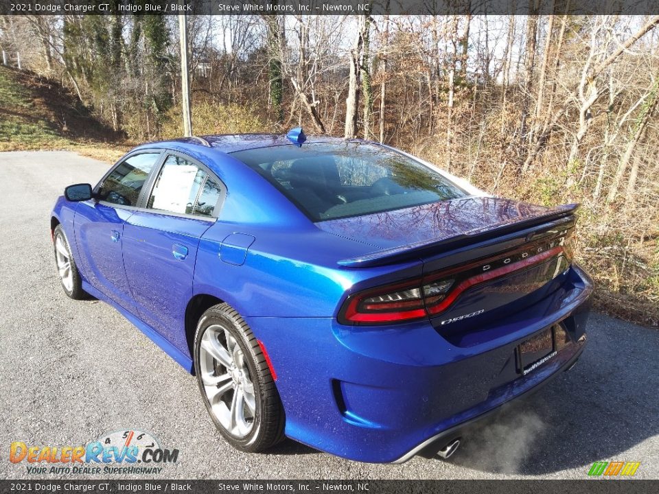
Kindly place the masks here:
[(119, 163), (103, 180), (98, 190), (100, 200), (123, 206), (136, 206), (139, 192), (159, 156), (160, 153), (135, 154)]

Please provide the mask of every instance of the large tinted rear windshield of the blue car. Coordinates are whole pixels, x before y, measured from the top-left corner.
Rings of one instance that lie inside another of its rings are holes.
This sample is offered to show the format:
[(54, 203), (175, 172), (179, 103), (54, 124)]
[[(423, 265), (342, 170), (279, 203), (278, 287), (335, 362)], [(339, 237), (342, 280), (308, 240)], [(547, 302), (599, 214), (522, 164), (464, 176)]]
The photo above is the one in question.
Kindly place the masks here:
[(336, 220), (467, 194), (404, 154), (367, 143), (283, 145), (231, 154), (312, 220)]

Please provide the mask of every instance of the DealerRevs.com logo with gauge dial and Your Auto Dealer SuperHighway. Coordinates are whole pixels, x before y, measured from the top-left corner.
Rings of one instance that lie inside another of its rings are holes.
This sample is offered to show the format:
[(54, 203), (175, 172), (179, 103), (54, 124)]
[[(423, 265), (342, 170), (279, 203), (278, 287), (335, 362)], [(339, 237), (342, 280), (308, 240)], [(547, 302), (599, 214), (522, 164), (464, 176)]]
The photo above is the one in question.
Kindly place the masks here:
[(178, 449), (163, 449), (148, 432), (122, 430), (103, 434), (86, 446), (36, 446), (14, 441), (9, 460), (14, 464), (25, 462), (30, 474), (146, 475), (161, 473), (163, 464), (175, 464)]

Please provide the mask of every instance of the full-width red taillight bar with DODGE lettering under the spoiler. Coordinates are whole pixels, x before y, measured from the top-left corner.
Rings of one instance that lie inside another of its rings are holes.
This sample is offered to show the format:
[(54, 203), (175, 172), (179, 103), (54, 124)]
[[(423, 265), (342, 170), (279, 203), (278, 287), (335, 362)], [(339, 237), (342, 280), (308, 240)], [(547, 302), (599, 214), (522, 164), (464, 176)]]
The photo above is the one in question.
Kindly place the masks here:
[(474, 285), (505, 277), (562, 255), (572, 260), (572, 231), (496, 257), (466, 263), (403, 283), (384, 285), (347, 298), (338, 320), (347, 325), (386, 324), (435, 316)]

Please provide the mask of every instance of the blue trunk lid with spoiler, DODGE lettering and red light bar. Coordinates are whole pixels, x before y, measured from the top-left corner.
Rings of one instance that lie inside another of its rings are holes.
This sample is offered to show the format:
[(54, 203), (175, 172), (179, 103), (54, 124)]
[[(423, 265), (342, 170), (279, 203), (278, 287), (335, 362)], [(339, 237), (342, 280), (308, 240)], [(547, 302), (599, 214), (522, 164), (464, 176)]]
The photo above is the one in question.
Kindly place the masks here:
[(551, 282), (570, 266), (575, 204), (547, 209), (496, 198), (449, 202), (319, 224), (380, 247), (343, 259), (342, 266), (423, 262), (418, 280), (376, 287), (361, 299), (351, 296), (344, 321), (378, 324), (387, 322), (390, 311), (401, 319), (425, 315), (438, 331), (451, 325), (454, 332), (486, 312), (527, 306), (555, 291)]

